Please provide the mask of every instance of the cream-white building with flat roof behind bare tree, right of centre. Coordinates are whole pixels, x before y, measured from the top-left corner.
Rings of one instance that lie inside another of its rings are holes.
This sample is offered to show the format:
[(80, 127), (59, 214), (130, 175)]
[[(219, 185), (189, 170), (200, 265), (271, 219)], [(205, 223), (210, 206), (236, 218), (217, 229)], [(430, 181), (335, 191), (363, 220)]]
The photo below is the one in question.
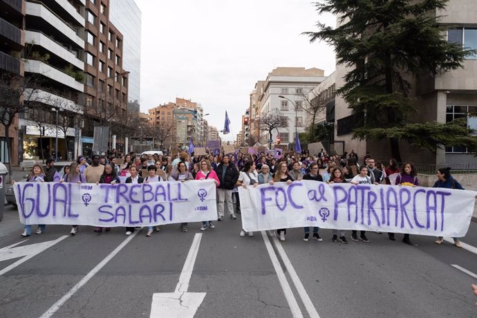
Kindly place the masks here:
[[(256, 85), (255, 104), (259, 104), (260, 109), (255, 114), (260, 118), (268, 113), (281, 116), (281, 127), (272, 131), (272, 140), (276, 140), (280, 134), (281, 145), (290, 149), (294, 147), (295, 132), (305, 130), (306, 97), (325, 78), (324, 71), (319, 68), (278, 67), (268, 73), (263, 87), (260, 85), (260, 91), (256, 91), (259, 87)], [(260, 133), (260, 143), (268, 144), (268, 131)]]

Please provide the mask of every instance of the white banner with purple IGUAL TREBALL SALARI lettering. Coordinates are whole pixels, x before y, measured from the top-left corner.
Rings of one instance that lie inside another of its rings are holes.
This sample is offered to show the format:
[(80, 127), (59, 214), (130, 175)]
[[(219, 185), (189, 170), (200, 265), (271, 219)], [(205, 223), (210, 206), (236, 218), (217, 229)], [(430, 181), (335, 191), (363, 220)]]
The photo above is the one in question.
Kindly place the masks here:
[(146, 226), (215, 220), (214, 180), (142, 184), (15, 183), (21, 223)]

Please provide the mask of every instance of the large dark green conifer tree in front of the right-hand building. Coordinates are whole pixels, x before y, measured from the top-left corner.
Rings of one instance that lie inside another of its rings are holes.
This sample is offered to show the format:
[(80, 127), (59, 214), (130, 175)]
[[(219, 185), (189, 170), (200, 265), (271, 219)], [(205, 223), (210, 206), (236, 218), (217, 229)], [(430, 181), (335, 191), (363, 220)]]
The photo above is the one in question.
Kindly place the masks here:
[(318, 23), (318, 32), (305, 32), (310, 41), (323, 40), (335, 47), (337, 64), (350, 68), (337, 90), (355, 118), (359, 140), (385, 140), (391, 155), (401, 161), (399, 142), (436, 151), (448, 146), (477, 149), (477, 138), (462, 122), (410, 123), (418, 111), (409, 95), (409, 78), (462, 67), (474, 50), (462, 50), (446, 39), (438, 25), (438, 10), (447, 0), (323, 0), (317, 12), (339, 17), (337, 28)]

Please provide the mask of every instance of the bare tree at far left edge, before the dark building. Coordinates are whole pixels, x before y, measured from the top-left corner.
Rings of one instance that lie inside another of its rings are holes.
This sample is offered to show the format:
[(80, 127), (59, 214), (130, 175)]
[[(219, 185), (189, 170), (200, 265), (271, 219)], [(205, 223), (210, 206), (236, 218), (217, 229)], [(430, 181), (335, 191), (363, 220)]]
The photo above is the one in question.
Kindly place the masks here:
[(2, 73), (0, 75), (0, 124), (5, 130), (8, 148), (8, 171), (12, 176), (12, 140), (10, 140), (10, 127), (15, 124), (15, 118), (25, 113), (30, 102), (37, 99), (39, 77), (21, 77)]

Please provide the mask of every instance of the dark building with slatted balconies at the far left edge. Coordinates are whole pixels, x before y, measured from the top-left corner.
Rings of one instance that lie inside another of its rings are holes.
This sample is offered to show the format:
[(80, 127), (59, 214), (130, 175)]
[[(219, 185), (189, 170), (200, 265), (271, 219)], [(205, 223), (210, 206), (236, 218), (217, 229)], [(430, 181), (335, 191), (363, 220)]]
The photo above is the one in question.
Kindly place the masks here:
[[(24, 62), (20, 57), (25, 47), (24, 34), (25, 2), (21, 0), (0, 0), (0, 76), (2, 85), (4, 76), (24, 76)], [(1, 107), (0, 97), (0, 107)], [(17, 165), (18, 155), (18, 118), (15, 118), (8, 131), (12, 142), (12, 164)], [(0, 127), (0, 162), (8, 162), (6, 131)], [(21, 149), (21, 148), (20, 148)]]

